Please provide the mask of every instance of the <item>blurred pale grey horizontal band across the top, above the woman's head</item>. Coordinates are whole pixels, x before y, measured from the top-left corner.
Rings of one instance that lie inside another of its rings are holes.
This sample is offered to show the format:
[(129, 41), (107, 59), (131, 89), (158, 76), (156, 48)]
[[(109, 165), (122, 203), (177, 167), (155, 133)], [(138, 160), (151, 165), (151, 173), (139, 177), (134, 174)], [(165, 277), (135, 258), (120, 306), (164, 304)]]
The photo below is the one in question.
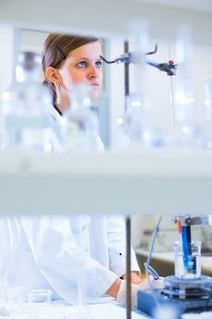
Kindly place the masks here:
[(33, 3), (1, 0), (0, 21), (38, 30), (81, 31), (104, 36), (126, 35), (130, 22), (145, 19), (150, 21), (153, 36), (171, 39), (177, 26), (187, 24), (192, 27), (197, 43), (211, 44), (212, 38), (208, 36), (212, 29), (211, 2), (207, 0), (204, 10), (198, 0), (181, 1), (184, 5), (177, 5), (177, 1), (173, 1), (174, 5), (171, 3), (163, 5), (161, 0), (60, 0), (54, 3), (52, 0)]

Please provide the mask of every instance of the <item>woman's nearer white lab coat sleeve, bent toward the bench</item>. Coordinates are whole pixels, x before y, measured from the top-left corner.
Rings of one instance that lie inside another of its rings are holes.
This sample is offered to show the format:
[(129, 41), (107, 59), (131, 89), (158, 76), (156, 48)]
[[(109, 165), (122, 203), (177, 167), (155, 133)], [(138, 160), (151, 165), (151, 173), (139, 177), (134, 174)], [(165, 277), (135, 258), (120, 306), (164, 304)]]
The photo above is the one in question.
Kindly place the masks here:
[(88, 303), (116, 281), (115, 273), (80, 248), (66, 218), (25, 217), (22, 224), (37, 269), (68, 303), (77, 304), (78, 287)]

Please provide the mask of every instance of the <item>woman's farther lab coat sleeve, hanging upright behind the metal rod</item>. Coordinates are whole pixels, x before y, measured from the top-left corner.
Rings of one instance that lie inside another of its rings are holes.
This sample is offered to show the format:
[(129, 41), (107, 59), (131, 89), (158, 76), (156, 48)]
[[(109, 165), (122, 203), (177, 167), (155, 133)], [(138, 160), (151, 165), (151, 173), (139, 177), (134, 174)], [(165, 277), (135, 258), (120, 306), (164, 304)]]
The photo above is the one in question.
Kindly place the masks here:
[[(121, 277), (126, 273), (126, 223), (122, 217), (107, 217), (107, 240), (110, 269)], [(140, 273), (133, 248), (131, 248), (131, 270)]]

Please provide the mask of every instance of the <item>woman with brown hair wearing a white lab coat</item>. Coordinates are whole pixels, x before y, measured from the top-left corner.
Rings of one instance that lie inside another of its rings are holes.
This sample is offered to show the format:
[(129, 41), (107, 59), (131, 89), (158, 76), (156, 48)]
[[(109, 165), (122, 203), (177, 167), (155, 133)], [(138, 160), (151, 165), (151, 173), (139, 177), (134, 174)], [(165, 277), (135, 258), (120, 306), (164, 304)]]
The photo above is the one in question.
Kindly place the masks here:
[[(42, 61), (45, 83), (53, 94), (54, 118), (60, 118), (69, 107), (73, 84), (88, 84), (91, 98), (97, 98), (102, 84), (101, 54), (101, 44), (95, 37), (47, 36)], [(23, 217), (12, 226), (17, 230), (14, 251), (21, 256), (15, 261), (16, 285), (25, 291), (50, 288), (53, 297), (77, 304), (80, 283), (87, 292), (84, 302), (104, 294), (125, 302), (126, 230), (121, 218)], [(138, 287), (146, 288), (146, 281), (139, 277), (133, 250), (131, 255), (131, 280), (136, 292)]]

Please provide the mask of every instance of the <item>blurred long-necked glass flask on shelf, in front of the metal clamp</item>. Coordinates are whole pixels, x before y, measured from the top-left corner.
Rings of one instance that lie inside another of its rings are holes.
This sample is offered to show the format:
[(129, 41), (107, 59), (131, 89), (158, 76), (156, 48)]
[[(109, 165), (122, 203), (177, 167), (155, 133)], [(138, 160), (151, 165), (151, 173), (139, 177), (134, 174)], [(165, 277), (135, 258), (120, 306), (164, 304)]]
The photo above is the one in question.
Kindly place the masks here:
[(156, 148), (165, 146), (165, 139), (153, 119), (149, 103), (150, 84), (146, 71), (148, 51), (148, 26), (135, 22), (130, 26), (129, 43), (133, 47), (130, 58), (131, 92), (126, 96), (126, 113), (117, 119), (117, 144), (119, 149)]

